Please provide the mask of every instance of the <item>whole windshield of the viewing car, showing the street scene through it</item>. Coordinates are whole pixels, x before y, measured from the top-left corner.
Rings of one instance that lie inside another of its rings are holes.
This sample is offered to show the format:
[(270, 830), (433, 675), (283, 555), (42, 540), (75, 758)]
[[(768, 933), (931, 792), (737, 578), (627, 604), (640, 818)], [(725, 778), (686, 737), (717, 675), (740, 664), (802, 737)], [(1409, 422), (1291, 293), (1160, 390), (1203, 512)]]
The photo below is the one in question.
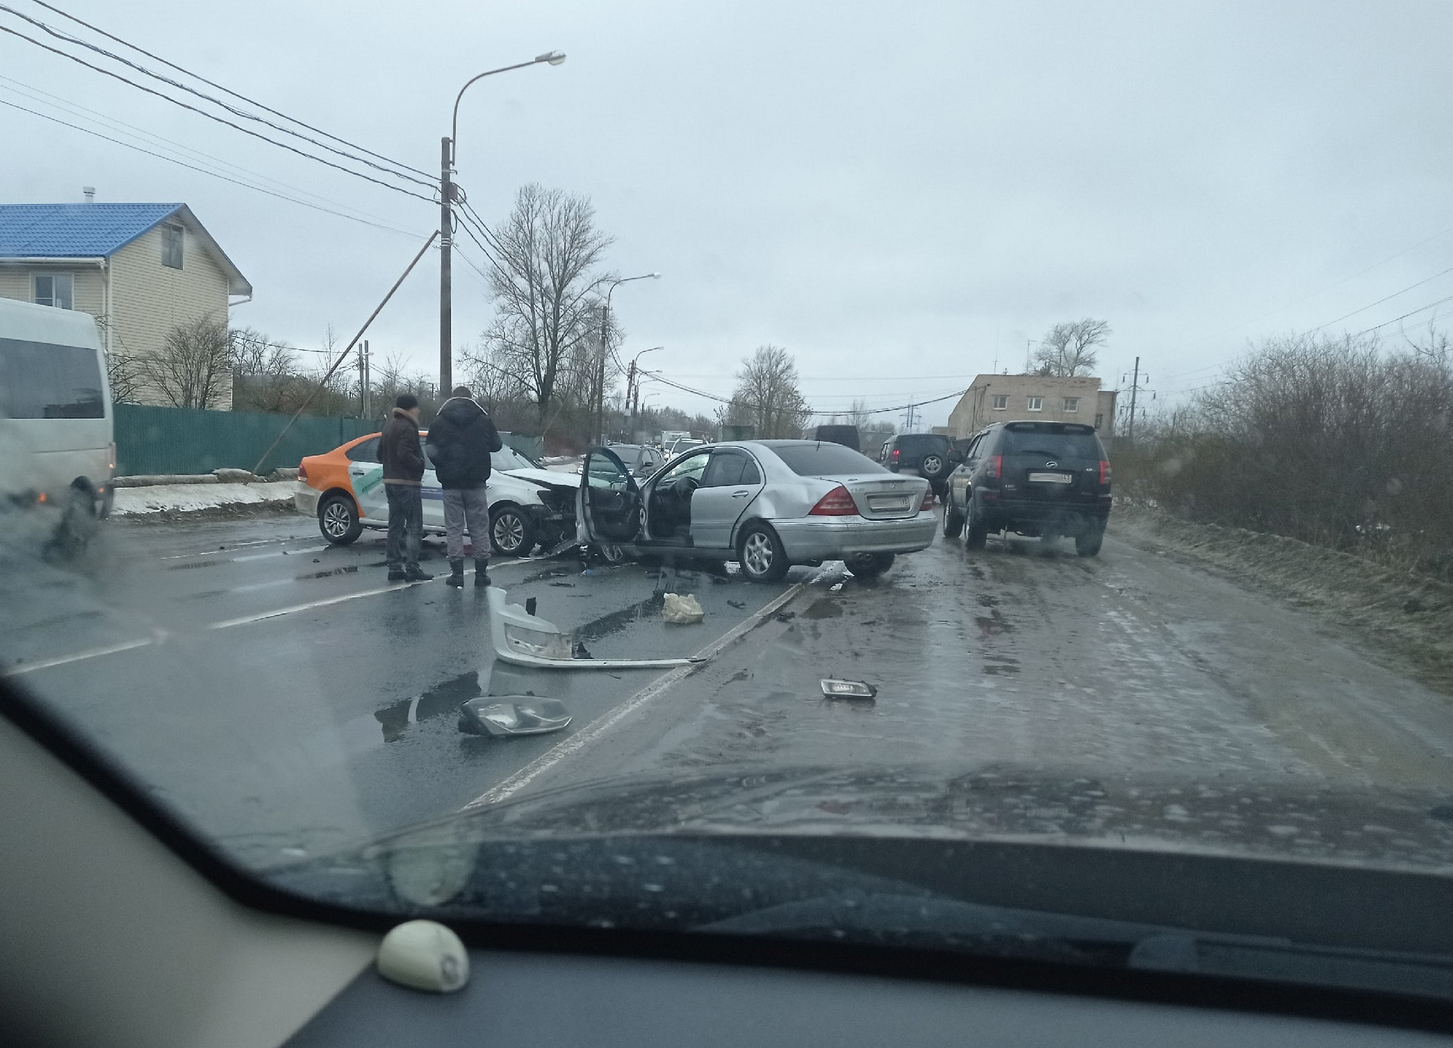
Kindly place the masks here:
[(0, 691), (247, 877), (1453, 958), (1446, 4), (22, 6)]

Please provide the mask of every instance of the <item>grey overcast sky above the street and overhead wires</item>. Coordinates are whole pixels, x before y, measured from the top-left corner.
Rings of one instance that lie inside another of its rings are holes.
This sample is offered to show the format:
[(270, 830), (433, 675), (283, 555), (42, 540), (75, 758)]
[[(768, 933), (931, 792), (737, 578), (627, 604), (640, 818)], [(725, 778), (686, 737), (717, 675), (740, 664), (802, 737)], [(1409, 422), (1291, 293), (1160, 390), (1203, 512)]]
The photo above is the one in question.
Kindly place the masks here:
[[(65, 26), (31, 0), (4, 3)], [(615, 237), (610, 269), (664, 274), (616, 292), (626, 356), (664, 344), (654, 367), (716, 393), (744, 354), (776, 343), (824, 411), (942, 396), (995, 361), (1020, 370), (1026, 340), (1091, 315), (1114, 331), (1107, 385), (1139, 356), (1170, 395), (1248, 338), (1314, 328), (1453, 267), (1446, 0), (55, 6), (424, 171), (468, 77), (568, 52), (469, 90), (459, 183), (487, 221), (527, 181), (587, 195)], [(4, 12), (0, 25), (23, 26)], [(100, 200), (186, 202), (254, 286), (232, 322), (298, 345), (317, 347), (330, 324), (352, 334), (437, 225), (437, 206), (7, 35), (0, 77), (0, 102), (83, 122), (22, 94), (45, 91), (417, 231), (0, 106), (0, 200), (78, 202), (90, 184)], [(375, 357), (436, 369), (437, 283), (434, 255), (378, 321)], [(484, 290), (456, 261), (458, 343), (484, 327)], [(1449, 295), (1453, 273), (1328, 329)], [(1402, 325), (1425, 329), (1437, 312)], [(676, 390), (654, 404), (711, 408)]]

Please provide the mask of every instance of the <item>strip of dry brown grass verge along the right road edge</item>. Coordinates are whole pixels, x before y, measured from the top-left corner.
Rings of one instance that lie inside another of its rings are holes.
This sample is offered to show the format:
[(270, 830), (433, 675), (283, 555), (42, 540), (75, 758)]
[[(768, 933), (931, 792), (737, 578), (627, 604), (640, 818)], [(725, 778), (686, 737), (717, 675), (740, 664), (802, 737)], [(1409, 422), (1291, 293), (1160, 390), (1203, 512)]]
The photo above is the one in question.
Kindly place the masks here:
[(1110, 534), (1311, 611), (1382, 665), (1453, 695), (1453, 585), (1296, 539), (1117, 504)]

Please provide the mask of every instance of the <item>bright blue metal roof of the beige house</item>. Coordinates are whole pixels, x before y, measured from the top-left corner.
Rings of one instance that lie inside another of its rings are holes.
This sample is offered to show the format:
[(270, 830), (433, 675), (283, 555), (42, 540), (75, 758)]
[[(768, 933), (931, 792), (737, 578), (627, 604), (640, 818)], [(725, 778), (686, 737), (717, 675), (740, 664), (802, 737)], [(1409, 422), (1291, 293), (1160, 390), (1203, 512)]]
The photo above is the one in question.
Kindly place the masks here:
[(180, 203), (0, 203), (0, 258), (109, 258)]

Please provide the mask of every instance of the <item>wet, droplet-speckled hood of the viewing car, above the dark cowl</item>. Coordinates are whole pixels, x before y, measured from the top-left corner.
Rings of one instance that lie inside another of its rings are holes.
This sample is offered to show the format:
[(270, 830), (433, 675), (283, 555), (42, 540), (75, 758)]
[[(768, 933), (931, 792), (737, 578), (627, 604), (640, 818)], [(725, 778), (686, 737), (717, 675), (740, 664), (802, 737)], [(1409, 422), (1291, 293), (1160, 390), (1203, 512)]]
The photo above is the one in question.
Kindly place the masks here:
[(796, 833), (1035, 839), (1453, 872), (1453, 791), (1113, 779), (1036, 769), (628, 775), (466, 816), (481, 835)]

